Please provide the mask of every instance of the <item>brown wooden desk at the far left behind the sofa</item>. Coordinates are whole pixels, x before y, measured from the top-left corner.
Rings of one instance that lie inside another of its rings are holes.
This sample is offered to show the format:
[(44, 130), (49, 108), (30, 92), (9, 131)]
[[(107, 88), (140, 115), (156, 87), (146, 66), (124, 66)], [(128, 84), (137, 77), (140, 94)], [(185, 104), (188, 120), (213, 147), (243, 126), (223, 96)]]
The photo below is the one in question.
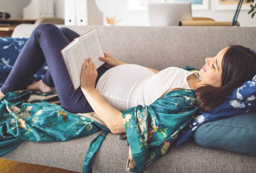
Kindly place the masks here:
[(35, 19), (0, 19), (0, 37), (11, 37), (14, 28), (23, 23), (34, 24)]

